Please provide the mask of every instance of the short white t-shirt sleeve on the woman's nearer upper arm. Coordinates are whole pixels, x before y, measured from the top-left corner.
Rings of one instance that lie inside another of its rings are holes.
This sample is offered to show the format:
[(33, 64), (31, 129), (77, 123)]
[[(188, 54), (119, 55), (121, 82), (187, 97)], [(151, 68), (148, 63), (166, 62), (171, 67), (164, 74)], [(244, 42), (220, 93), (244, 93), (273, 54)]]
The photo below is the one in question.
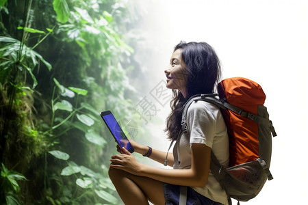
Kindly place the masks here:
[(212, 148), (216, 120), (207, 103), (192, 102), (188, 108), (188, 130), (190, 146), (192, 143), (204, 143)]

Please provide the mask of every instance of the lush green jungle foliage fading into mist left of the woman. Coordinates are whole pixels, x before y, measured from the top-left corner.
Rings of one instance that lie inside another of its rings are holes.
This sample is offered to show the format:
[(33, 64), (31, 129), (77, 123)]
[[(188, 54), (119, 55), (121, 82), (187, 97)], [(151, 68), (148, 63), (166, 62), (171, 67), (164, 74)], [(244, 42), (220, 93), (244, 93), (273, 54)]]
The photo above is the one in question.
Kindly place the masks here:
[(116, 144), (99, 111), (111, 110), (129, 137), (145, 132), (132, 100), (137, 7), (0, 1), (1, 204), (120, 204), (107, 176)]

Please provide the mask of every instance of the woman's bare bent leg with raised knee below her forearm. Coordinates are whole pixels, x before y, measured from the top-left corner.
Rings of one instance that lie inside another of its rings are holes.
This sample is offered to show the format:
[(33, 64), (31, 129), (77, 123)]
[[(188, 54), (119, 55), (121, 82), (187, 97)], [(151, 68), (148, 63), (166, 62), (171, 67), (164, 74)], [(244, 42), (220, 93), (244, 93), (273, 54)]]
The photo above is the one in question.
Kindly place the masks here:
[(143, 176), (129, 174), (121, 169), (109, 169), (109, 176), (124, 204), (164, 205), (164, 183)]

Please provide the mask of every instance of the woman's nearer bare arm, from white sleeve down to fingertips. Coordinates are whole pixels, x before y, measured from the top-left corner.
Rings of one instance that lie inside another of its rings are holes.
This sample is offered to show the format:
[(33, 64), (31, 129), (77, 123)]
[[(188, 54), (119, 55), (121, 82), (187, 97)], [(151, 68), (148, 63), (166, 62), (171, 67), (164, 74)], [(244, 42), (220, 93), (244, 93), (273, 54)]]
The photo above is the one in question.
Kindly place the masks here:
[(136, 161), (129, 152), (112, 156), (110, 167), (123, 169), (131, 174), (153, 178), (170, 184), (204, 187), (209, 176), (210, 159), (211, 148), (205, 146), (205, 144), (193, 143), (192, 167), (190, 169), (164, 169), (144, 165)]

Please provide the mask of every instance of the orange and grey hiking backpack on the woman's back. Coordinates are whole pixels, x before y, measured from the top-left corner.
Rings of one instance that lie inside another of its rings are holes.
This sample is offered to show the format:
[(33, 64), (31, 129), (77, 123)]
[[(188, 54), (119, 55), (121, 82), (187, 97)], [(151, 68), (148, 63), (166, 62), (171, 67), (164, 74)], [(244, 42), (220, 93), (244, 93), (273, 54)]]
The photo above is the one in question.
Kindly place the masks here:
[(182, 130), (188, 131), (185, 119), (192, 102), (204, 100), (220, 107), (228, 129), (230, 161), (229, 167), (224, 167), (211, 152), (211, 172), (226, 191), (229, 204), (231, 197), (246, 202), (261, 191), (267, 179), (272, 179), (272, 135), (277, 135), (259, 84), (242, 77), (224, 79), (218, 84), (218, 95), (192, 96), (183, 109)]

